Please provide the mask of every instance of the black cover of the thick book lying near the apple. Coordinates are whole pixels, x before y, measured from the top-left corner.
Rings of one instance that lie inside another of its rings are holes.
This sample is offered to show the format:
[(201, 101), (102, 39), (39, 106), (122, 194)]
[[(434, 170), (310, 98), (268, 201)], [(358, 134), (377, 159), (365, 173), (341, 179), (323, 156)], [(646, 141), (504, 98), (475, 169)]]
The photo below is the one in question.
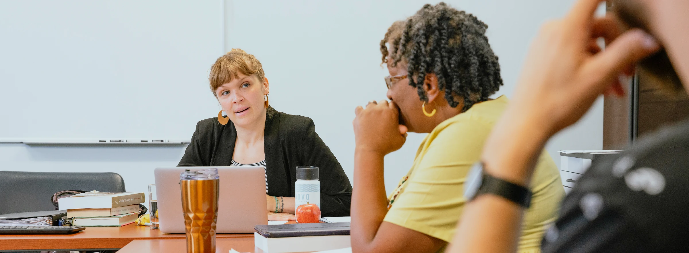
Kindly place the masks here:
[(266, 238), (349, 235), (349, 222), (256, 225), (254, 230)]

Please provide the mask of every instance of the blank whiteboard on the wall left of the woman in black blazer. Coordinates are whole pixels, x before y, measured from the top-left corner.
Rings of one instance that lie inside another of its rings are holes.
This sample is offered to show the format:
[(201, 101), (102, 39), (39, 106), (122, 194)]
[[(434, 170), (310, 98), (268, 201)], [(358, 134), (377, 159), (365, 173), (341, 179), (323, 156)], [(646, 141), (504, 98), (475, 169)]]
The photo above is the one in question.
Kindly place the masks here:
[(223, 1), (0, 1), (0, 138), (189, 139)]

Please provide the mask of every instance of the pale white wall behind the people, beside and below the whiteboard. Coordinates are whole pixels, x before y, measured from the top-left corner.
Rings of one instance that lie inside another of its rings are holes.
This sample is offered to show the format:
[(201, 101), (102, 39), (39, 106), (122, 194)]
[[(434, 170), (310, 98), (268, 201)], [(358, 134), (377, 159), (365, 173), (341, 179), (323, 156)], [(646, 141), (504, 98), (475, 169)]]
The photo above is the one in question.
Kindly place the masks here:
[[(446, 2), (475, 14), (489, 25), (488, 37), (500, 57), (505, 84), (498, 94), (509, 97), (528, 43), (540, 24), (562, 17), (573, 0)], [(316, 131), (351, 179), (353, 109), (371, 99), (384, 99), (386, 92), (382, 77), (387, 76), (387, 71), (380, 67), (378, 43), (393, 21), (410, 16), (424, 3), (427, 2), (226, 0), (225, 51), (242, 48), (260, 59), (271, 84), (271, 105), (282, 112), (313, 119)], [(198, 85), (198, 90), (207, 92), (207, 86)], [(214, 112), (196, 113), (198, 120), (214, 116)], [(192, 131), (189, 130), (189, 136)], [(388, 191), (409, 170), (422, 138), (423, 134), (410, 134), (401, 150), (386, 157)], [(557, 163), (557, 150), (600, 149), (601, 143), (602, 103), (597, 103), (584, 121), (555, 136), (547, 149)], [(75, 148), (0, 144), (0, 170), (118, 172), (125, 178), (127, 190), (145, 191), (146, 185), (153, 183), (153, 168), (174, 166), (182, 154), (183, 147), (179, 146)]]

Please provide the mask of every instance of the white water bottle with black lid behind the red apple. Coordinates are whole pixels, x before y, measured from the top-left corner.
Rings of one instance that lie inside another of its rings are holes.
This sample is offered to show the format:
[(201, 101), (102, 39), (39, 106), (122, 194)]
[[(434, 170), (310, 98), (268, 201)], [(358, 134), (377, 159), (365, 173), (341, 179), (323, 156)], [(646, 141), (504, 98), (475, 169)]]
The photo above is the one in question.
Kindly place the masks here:
[[(297, 181), (294, 183), (294, 208), (306, 203), (316, 204), (320, 209), (320, 181), (318, 167), (297, 166)], [(295, 210), (296, 212), (296, 210)]]

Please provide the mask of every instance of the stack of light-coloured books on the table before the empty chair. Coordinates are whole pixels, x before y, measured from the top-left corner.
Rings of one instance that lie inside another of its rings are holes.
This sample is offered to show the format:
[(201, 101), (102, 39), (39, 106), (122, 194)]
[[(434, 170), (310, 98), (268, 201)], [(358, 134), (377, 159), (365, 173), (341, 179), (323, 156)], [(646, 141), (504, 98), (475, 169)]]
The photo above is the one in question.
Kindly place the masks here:
[(121, 227), (138, 218), (138, 204), (145, 202), (143, 192), (84, 192), (58, 200), (60, 210), (67, 210), (72, 225), (84, 227)]

